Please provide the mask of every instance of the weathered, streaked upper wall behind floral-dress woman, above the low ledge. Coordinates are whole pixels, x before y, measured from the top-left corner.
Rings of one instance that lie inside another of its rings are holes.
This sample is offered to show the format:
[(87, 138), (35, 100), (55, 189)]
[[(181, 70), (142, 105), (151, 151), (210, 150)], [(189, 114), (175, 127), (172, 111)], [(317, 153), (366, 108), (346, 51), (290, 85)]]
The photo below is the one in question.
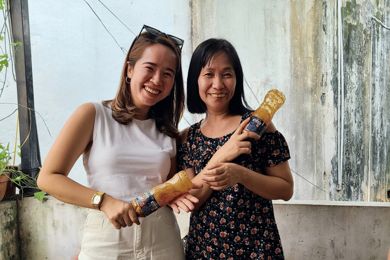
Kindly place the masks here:
[(390, 1), (341, 1), (343, 78), (338, 72), (337, 1), (191, 4), (193, 48), (210, 37), (230, 40), (243, 63), (253, 108), (271, 88), (285, 94), (286, 103), (273, 121), (290, 146), (294, 199), (385, 200), (390, 183), (390, 31), (371, 17), (389, 26)]

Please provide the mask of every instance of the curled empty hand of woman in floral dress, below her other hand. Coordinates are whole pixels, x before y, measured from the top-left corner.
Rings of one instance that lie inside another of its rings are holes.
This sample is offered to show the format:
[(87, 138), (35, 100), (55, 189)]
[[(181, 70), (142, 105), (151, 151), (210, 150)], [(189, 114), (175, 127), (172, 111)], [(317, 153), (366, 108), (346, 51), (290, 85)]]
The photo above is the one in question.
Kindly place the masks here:
[(229, 188), (240, 182), (240, 167), (233, 163), (218, 163), (204, 171), (204, 180), (214, 190)]

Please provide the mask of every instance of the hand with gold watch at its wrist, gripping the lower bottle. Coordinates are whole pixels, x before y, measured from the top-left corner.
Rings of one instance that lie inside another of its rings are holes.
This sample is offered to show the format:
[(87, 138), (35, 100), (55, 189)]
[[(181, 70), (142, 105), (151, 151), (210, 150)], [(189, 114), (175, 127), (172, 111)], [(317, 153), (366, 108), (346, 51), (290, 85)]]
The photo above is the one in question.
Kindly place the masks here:
[(132, 204), (115, 199), (106, 193), (103, 194), (100, 210), (106, 214), (117, 230), (126, 226), (132, 226), (133, 223), (140, 224)]

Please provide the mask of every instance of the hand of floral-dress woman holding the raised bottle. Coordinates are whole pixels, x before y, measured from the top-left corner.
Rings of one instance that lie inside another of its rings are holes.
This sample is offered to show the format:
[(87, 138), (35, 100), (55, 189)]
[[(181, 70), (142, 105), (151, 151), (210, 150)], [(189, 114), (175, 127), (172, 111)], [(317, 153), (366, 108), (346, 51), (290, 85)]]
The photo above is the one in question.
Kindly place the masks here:
[(243, 129), (249, 123), (250, 117), (245, 119), (240, 123), (237, 127), (236, 131), (233, 133), (231, 138), (222, 145), (210, 159), (212, 164), (214, 163), (229, 163), (234, 158), (239, 156), (240, 154), (249, 154), (251, 152), (251, 143), (249, 141), (245, 141), (247, 138), (253, 138), (255, 140), (260, 137), (253, 132), (245, 132), (242, 133)]

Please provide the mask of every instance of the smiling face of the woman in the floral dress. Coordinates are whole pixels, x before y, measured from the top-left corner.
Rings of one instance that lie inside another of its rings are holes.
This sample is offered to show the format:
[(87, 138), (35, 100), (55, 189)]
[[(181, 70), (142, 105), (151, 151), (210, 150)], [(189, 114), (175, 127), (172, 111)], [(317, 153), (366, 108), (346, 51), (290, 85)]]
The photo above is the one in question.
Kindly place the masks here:
[(224, 113), (236, 88), (236, 74), (229, 55), (217, 52), (202, 68), (198, 78), (199, 95), (207, 110)]

